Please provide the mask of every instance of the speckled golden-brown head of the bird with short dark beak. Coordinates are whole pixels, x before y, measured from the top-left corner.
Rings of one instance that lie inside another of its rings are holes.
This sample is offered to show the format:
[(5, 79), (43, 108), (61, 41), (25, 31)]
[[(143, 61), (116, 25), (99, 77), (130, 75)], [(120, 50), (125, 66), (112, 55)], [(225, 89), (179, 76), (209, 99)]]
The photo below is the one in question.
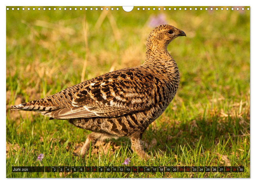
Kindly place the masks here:
[(159, 25), (148, 35), (147, 45), (166, 49), (167, 45), (179, 36), (186, 34), (172, 25)]

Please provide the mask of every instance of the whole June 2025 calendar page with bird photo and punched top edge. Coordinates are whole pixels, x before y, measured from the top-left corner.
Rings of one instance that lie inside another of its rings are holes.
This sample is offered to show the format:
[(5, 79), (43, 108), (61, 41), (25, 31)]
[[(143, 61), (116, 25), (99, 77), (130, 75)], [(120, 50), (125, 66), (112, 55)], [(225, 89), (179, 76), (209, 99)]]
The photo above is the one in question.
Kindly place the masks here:
[(6, 177), (250, 178), (250, 6), (6, 6)]

